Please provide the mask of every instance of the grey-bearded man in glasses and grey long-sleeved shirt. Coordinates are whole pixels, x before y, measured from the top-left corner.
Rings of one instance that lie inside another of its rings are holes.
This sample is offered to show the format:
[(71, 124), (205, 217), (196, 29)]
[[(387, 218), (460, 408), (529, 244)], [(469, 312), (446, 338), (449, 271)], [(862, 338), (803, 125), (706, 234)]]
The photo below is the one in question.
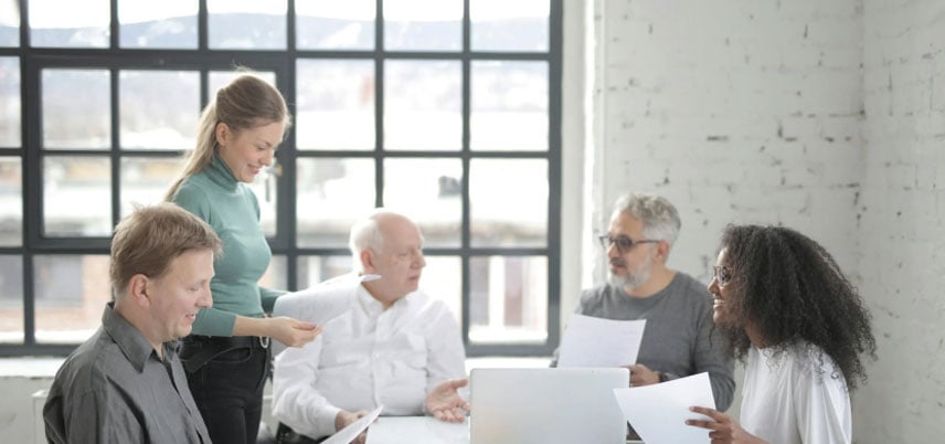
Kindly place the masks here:
[(628, 366), (630, 384), (709, 372), (715, 406), (725, 411), (735, 390), (734, 364), (722, 351), (721, 335), (712, 334), (712, 298), (704, 285), (666, 265), (680, 226), (679, 213), (663, 198), (629, 193), (618, 199), (608, 232), (601, 236), (609, 279), (584, 290), (575, 313), (646, 319), (637, 364)]

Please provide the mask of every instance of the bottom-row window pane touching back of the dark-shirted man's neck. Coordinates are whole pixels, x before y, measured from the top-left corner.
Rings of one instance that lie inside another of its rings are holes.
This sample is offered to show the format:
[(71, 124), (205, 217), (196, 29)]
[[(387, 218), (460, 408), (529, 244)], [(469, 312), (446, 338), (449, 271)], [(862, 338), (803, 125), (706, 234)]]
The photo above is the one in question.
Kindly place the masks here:
[(78, 343), (102, 324), (112, 300), (107, 255), (33, 257), (36, 342)]

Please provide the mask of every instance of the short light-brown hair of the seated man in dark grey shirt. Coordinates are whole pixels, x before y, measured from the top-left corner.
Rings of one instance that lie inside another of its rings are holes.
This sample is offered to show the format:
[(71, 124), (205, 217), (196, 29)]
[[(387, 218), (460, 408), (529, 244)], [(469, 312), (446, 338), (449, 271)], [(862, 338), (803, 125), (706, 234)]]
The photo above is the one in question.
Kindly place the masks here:
[(211, 250), (220, 254), (223, 242), (213, 229), (173, 203), (135, 209), (115, 226), (112, 237), (112, 290), (120, 297), (136, 274), (158, 278), (183, 253)]

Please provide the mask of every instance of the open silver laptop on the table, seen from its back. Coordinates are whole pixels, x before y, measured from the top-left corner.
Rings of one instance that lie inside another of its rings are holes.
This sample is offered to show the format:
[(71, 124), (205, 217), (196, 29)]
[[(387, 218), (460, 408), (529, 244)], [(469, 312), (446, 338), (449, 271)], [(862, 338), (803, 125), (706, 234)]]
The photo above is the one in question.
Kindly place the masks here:
[(473, 369), (471, 444), (624, 444), (623, 368)]

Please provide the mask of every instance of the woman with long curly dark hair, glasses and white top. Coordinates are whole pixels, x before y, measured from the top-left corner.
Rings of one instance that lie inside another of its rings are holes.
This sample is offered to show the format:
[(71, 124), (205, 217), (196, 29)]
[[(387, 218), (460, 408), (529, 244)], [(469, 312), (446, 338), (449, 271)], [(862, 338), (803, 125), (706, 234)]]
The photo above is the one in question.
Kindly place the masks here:
[(709, 292), (728, 350), (746, 363), (741, 421), (687, 424), (712, 443), (850, 443), (850, 391), (875, 359), (870, 314), (833, 257), (781, 226), (729, 225)]

